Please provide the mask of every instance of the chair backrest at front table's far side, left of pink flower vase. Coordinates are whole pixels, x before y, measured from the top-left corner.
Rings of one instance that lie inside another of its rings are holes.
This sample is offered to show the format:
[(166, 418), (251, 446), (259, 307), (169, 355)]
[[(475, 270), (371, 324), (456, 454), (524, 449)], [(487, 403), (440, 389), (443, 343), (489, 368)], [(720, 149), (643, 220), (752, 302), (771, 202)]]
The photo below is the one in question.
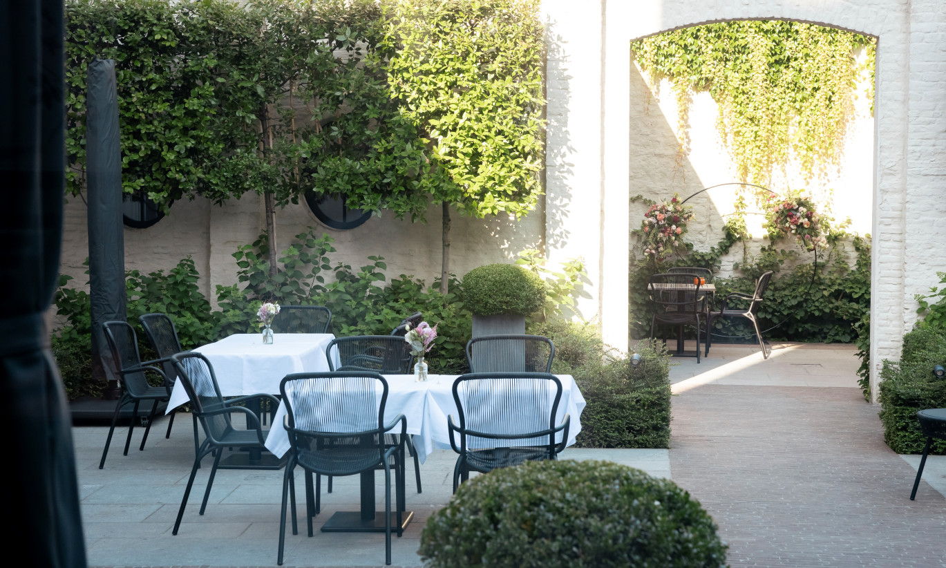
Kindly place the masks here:
[(337, 337), (325, 347), (332, 371), (374, 371), (391, 375), (412, 372), (411, 346), (396, 335)]

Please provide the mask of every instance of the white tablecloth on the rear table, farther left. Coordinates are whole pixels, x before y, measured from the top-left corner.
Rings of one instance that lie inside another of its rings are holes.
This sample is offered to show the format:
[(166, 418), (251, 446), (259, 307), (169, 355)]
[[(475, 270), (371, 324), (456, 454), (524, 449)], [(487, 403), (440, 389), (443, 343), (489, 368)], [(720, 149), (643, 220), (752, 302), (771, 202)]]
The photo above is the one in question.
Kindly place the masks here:
[[(261, 333), (235, 333), (216, 343), (194, 349), (210, 361), (224, 397), (279, 394), (279, 383), (289, 373), (328, 370), (325, 347), (331, 333), (275, 333), (272, 345), (263, 345)], [(184, 385), (177, 382), (167, 412), (187, 402)]]

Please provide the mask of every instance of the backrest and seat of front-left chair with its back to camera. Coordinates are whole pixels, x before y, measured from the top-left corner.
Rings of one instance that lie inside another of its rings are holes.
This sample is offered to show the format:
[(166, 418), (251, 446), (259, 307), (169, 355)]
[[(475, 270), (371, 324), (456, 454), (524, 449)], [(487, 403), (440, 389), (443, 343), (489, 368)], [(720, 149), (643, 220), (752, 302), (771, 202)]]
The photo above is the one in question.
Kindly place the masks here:
[(364, 463), (363, 454), (346, 452), (352, 448), (352, 435), (358, 433), (373, 433), (359, 436), (359, 450), (377, 447), (378, 461), (383, 459), (388, 399), (384, 377), (371, 371), (293, 373), (279, 384), (279, 393), (286, 404), (292, 452), (331, 449), (306, 460), (309, 469), (343, 475), (372, 467)]

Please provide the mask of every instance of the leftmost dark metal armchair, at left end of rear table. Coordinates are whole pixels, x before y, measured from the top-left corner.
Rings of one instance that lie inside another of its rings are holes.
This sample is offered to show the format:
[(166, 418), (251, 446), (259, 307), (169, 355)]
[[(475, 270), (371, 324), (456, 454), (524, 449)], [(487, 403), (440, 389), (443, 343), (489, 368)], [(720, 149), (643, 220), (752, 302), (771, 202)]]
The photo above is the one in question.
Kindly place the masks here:
[[(109, 344), (109, 348), (112, 350), (112, 358), (116, 367), (114, 370), (122, 385), (122, 395), (121, 399), (118, 399), (117, 404), (115, 404), (112, 426), (109, 428), (109, 436), (105, 440), (102, 459), (98, 462), (99, 470), (105, 467), (105, 457), (109, 453), (115, 423), (118, 421), (122, 407), (129, 402), (134, 402), (134, 408), (131, 410), (131, 424), (128, 427), (128, 438), (125, 439), (125, 452), (122, 453), (122, 455), (128, 455), (131, 432), (134, 430), (134, 422), (138, 418), (138, 405), (141, 404), (141, 401), (151, 401), (151, 412), (148, 415), (148, 426), (145, 427), (145, 435), (141, 436), (139, 451), (145, 449), (145, 440), (148, 439), (151, 423), (157, 413), (158, 402), (166, 402), (171, 398), (171, 383), (167, 381), (164, 371), (158, 367), (141, 363), (141, 356), (138, 353), (138, 337), (135, 335), (134, 329), (128, 323), (121, 321), (105, 322), (102, 324), (102, 328), (105, 331), (105, 339)], [(161, 386), (151, 386), (145, 375), (146, 372), (157, 374), (161, 378)], [(170, 432), (170, 425), (167, 426), (167, 431)]]

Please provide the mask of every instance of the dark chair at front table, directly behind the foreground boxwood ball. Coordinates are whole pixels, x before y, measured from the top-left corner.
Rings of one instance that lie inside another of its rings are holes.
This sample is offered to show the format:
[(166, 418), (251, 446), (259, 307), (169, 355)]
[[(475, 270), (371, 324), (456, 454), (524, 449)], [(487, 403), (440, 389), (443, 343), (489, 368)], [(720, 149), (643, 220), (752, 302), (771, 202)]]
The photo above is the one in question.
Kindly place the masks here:
[[(469, 373), (454, 381), (460, 424), (451, 415), (447, 428), (450, 446), (460, 457), (453, 469), (453, 492), (470, 471), (556, 459), (568, 443), (571, 421), (565, 415), (555, 425), (561, 399), (562, 382), (549, 373)], [(558, 434), (562, 441), (556, 443)]]

